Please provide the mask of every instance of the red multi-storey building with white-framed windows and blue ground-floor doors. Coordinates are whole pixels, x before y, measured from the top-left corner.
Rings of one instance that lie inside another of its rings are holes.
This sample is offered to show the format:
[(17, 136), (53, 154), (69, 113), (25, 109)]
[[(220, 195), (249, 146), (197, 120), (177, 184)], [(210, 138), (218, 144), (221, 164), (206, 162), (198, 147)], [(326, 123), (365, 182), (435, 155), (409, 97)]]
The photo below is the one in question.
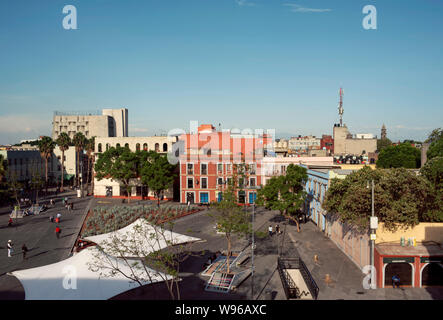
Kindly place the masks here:
[[(219, 201), (232, 179), (234, 164), (245, 163), (249, 170), (239, 203), (253, 203), (261, 181), (261, 160), (271, 139), (263, 134), (218, 132), (210, 124), (198, 127), (197, 133), (183, 134), (180, 155), (180, 202), (210, 203)], [(241, 184), (241, 182), (240, 182)]]

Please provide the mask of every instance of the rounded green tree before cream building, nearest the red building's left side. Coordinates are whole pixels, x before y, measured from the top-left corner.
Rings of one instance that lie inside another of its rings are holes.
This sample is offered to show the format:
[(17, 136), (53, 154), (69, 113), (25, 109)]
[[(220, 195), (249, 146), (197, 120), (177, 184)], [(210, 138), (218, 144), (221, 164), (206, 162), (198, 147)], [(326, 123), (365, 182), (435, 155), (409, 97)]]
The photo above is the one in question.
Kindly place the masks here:
[(170, 164), (166, 156), (154, 151), (140, 151), (139, 154), (145, 159), (141, 163), (140, 180), (154, 191), (160, 206), (160, 195), (174, 182), (176, 166)]

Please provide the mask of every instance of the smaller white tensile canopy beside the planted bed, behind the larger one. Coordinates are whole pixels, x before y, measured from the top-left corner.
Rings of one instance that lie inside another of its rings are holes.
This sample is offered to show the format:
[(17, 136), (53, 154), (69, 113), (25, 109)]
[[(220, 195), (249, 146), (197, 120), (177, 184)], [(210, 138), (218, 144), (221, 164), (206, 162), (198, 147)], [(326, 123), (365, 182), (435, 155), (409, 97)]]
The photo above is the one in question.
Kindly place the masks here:
[[(110, 250), (110, 247), (116, 247), (116, 244), (118, 244), (118, 254), (122, 257), (140, 257), (169, 246), (201, 241), (200, 238), (190, 237), (162, 229), (158, 226), (153, 226), (144, 218), (140, 218), (117, 231), (86, 237), (84, 239), (96, 243), (109, 255), (115, 254), (114, 250)], [(139, 254), (135, 254), (133, 251), (135, 247), (134, 243), (138, 246), (137, 250)], [(123, 249), (124, 247), (127, 248), (126, 251)]]

